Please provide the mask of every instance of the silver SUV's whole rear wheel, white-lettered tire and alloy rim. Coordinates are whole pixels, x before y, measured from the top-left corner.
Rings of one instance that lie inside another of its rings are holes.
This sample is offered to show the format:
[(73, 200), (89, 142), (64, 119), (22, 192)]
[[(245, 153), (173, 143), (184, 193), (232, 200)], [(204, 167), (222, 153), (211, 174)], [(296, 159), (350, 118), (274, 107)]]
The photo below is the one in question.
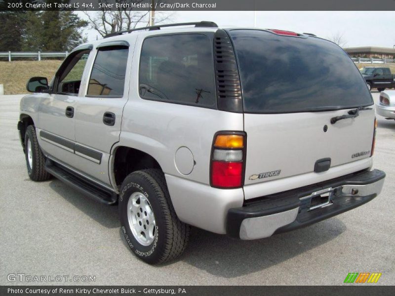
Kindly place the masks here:
[(120, 188), (118, 208), (123, 235), (138, 258), (157, 264), (184, 252), (190, 226), (178, 219), (160, 170), (129, 174)]

